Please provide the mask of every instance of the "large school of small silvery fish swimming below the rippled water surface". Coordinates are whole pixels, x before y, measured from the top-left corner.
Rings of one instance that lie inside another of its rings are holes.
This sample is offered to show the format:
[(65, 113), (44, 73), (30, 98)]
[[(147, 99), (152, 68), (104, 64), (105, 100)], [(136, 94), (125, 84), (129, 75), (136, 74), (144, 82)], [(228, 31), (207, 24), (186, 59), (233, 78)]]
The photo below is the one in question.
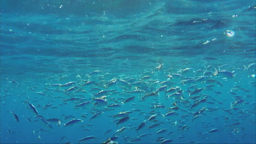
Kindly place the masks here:
[[(31, 131), (35, 139), (43, 139), (43, 133), (55, 135), (55, 129), (80, 131), (77, 141), (61, 133), (59, 143), (175, 143), (195, 127), (194, 135), (202, 138), (221, 131), (236, 135), (243, 131), (243, 121), (255, 127), (255, 93), (249, 90), (256, 87), (255, 68), (255, 63), (201, 69), (159, 64), (139, 75), (95, 70), (76, 74), (75, 79), (68, 74), (51, 76), (44, 85), (13, 80), (2, 88), (1, 102), (8, 105), (9, 93), (21, 93), (22, 105), (31, 115), (8, 113), (16, 123), (38, 125)], [(220, 119), (226, 124), (213, 124)], [(15, 133), (15, 128), (8, 132)], [(195, 137), (184, 143), (200, 141)]]

